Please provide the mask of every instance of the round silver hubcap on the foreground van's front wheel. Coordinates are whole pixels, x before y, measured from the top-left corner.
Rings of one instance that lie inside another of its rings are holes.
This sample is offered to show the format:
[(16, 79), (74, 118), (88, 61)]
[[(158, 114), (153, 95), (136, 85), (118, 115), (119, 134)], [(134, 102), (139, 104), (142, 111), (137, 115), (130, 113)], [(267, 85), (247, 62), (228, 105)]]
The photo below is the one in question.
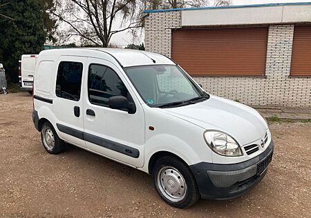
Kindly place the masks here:
[(157, 176), (158, 188), (170, 201), (181, 201), (185, 198), (187, 184), (181, 173), (176, 168), (164, 166)]

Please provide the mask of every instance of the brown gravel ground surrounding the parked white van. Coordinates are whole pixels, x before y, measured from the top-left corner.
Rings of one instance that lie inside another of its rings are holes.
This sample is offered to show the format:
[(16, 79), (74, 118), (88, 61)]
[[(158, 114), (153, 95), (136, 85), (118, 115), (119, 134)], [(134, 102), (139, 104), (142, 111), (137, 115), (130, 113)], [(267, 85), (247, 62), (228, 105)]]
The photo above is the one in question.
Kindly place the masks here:
[(49, 155), (27, 92), (0, 95), (1, 217), (310, 217), (311, 123), (271, 123), (274, 159), (249, 193), (187, 210), (158, 197), (144, 172), (70, 146)]

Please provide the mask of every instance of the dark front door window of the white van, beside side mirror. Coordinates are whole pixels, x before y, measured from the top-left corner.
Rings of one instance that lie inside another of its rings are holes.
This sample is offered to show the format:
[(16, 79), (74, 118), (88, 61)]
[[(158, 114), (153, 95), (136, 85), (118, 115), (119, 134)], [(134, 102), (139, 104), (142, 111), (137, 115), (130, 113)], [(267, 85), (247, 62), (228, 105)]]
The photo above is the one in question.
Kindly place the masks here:
[(110, 97), (122, 95), (127, 98), (128, 91), (113, 69), (91, 64), (88, 70), (88, 99), (91, 103), (108, 107)]

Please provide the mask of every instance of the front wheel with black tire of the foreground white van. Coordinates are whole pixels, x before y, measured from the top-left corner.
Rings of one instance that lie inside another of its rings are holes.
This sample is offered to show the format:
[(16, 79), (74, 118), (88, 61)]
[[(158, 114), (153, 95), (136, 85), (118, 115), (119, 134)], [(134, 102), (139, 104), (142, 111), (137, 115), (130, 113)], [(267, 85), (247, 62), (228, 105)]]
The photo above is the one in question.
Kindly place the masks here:
[(189, 208), (200, 199), (196, 179), (184, 161), (165, 156), (153, 166), (153, 184), (162, 199), (176, 208)]

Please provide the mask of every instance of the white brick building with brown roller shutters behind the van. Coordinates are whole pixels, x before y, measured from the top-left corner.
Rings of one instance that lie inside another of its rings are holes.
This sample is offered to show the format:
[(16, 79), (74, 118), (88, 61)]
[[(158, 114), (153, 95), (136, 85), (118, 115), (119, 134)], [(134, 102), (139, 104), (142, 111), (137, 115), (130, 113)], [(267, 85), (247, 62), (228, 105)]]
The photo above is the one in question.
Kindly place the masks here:
[(311, 106), (311, 3), (144, 12), (145, 48), (174, 59), (214, 95)]

